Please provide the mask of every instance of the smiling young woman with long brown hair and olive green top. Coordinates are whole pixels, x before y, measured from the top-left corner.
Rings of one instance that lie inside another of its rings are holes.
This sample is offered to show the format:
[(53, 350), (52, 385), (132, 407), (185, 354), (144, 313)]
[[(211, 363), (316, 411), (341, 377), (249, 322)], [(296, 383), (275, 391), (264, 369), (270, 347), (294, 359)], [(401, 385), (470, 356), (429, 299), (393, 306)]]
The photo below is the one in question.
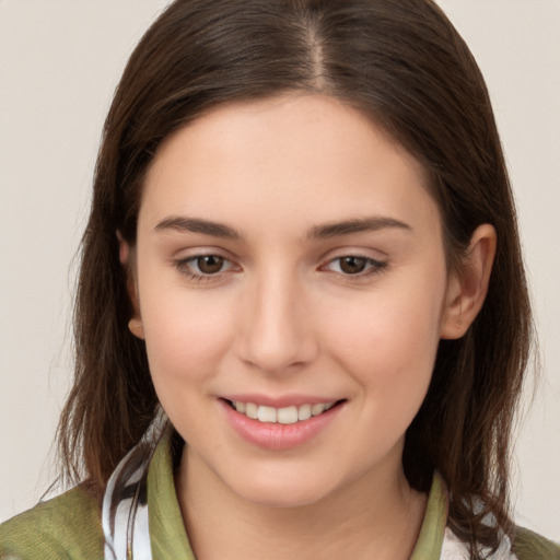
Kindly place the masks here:
[(560, 558), (509, 510), (530, 331), (489, 97), (433, 2), (176, 1), (100, 151), (81, 483), (1, 558)]

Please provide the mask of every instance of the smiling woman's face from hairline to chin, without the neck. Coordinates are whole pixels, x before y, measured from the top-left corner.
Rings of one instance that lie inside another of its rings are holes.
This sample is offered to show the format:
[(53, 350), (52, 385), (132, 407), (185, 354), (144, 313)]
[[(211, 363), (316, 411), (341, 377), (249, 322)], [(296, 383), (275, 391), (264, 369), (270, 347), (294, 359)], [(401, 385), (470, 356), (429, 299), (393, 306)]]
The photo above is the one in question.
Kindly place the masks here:
[(131, 329), (192, 476), (271, 505), (401, 477), (450, 289), (400, 145), (325, 96), (215, 108), (159, 150), (136, 250)]

